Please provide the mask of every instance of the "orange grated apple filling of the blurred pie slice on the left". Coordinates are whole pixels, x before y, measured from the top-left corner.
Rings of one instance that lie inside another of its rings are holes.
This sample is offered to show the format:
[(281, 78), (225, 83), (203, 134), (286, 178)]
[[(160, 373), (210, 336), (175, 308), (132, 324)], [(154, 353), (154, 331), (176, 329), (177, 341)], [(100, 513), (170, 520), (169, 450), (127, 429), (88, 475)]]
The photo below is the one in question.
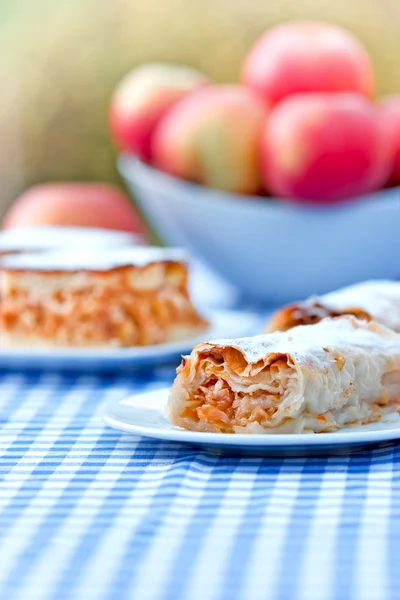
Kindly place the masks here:
[(158, 278), (151, 269), (143, 271), (29, 273), (29, 285), (26, 274), (5, 274), (0, 344), (143, 346), (207, 327), (190, 301), (182, 273), (171, 270)]

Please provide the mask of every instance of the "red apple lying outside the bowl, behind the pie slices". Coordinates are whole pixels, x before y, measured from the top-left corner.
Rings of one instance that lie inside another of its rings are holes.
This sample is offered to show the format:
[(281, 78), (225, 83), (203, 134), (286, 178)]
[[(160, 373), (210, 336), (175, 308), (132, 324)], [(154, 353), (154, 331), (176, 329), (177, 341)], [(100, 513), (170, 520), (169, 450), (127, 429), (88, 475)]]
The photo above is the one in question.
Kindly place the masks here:
[(46, 183), (29, 188), (9, 208), (3, 227), (35, 225), (145, 232), (128, 196), (106, 183)]

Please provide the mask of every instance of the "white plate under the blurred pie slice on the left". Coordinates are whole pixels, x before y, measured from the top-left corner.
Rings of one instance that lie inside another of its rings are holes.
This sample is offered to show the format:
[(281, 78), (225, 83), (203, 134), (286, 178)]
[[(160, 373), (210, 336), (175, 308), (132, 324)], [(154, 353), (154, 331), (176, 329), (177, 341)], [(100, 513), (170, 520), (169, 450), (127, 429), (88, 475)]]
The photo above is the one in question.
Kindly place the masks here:
[(213, 311), (206, 314), (211, 326), (203, 334), (180, 342), (132, 348), (4, 348), (0, 369), (57, 369), (77, 371), (129, 370), (179, 361), (204, 340), (254, 335), (262, 328), (260, 317), (248, 312)]

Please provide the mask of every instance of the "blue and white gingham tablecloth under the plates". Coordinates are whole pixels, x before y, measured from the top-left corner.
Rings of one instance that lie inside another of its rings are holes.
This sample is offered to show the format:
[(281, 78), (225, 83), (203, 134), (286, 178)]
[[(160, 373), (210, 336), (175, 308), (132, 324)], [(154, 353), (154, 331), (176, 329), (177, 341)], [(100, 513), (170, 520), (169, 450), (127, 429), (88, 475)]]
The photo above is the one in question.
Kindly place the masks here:
[(1, 600), (400, 598), (400, 446), (207, 454), (107, 429), (135, 377), (0, 375)]

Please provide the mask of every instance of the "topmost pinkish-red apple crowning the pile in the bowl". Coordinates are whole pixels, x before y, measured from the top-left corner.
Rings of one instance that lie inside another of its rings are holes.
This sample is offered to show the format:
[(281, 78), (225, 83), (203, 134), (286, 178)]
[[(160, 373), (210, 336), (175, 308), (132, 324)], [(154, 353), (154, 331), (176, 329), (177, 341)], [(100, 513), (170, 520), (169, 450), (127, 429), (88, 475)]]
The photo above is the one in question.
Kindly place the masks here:
[(328, 23), (289, 22), (250, 51), (242, 82), (273, 104), (297, 92), (357, 92), (370, 97), (374, 71), (362, 44)]

